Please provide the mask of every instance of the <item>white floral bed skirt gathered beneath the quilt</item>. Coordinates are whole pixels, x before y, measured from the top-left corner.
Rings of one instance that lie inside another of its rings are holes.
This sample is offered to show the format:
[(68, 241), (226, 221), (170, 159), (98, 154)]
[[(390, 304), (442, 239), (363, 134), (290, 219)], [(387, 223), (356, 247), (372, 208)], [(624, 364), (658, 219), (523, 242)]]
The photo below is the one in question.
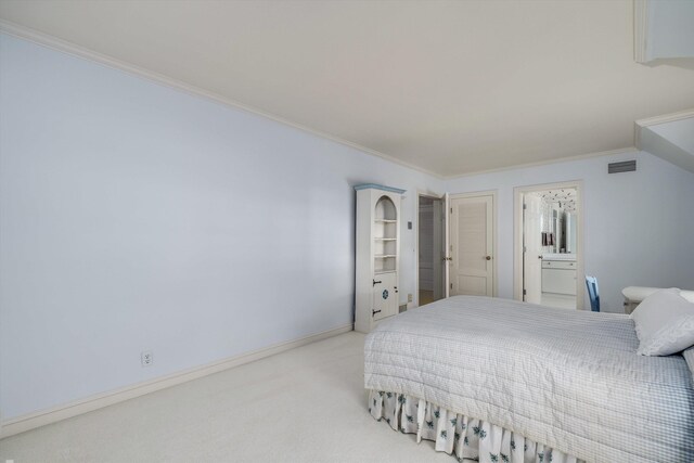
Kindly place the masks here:
[(369, 391), (369, 412), (391, 428), (436, 442), (436, 450), (480, 463), (580, 463), (503, 427), (451, 412), (403, 394)]

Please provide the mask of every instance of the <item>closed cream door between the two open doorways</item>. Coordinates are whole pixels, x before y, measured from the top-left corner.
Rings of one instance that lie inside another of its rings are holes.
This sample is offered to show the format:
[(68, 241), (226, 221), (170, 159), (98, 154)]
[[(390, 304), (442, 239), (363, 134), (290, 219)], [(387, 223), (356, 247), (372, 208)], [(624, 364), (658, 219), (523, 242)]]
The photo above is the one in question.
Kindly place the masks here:
[(493, 296), (493, 195), (451, 200), (451, 295)]

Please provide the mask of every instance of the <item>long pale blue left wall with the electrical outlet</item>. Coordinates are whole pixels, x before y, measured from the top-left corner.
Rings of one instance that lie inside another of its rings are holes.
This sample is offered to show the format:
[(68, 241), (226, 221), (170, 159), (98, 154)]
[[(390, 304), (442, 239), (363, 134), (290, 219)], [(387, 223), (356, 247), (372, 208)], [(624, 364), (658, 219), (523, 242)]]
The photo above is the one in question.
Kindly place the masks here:
[(4, 420), (351, 322), (352, 187), (415, 220), (441, 183), (9, 36), (0, 60)]

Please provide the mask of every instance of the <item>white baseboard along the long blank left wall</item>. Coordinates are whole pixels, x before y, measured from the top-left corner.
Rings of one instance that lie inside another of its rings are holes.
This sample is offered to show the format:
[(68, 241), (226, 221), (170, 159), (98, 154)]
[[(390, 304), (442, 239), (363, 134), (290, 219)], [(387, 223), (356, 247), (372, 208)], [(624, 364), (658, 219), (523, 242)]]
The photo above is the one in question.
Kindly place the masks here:
[(55, 423), (61, 420), (65, 420), (72, 416), (77, 416), (82, 413), (88, 413), (104, 407), (113, 406), (114, 403), (123, 402), (125, 400), (133, 399), (136, 397), (143, 396), (145, 394), (162, 390), (167, 387), (176, 386), (188, 381), (197, 380), (209, 374), (218, 373), (223, 370), (228, 370), (234, 366), (242, 365), (244, 363), (260, 360), (266, 357), (273, 356), (275, 353), (283, 352), (285, 350), (293, 349), (295, 347), (305, 346), (317, 340), (325, 339), (327, 337), (336, 336), (338, 334), (352, 331), (354, 324), (349, 323), (343, 326), (338, 326), (333, 330), (327, 330), (321, 333), (311, 334), (300, 337), (294, 340), (287, 340), (284, 343), (275, 344), (273, 346), (265, 347), (262, 349), (254, 350), (241, 356), (230, 357), (223, 360), (219, 360), (213, 363), (208, 363), (202, 366), (195, 366), (192, 369), (183, 370), (177, 373), (172, 373), (166, 376), (156, 377), (142, 383), (137, 383), (130, 386), (121, 387), (108, 393), (99, 394), (95, 396), (87, 397), (85, 399), (76, 400), (62, 406), (53, 407), (40, 412), (29, 413), (26, 415), (13, 417), (0, 423), (0, 439), (15, 434), (24, 433), (29, 429), (34, 429), (47, 424)]

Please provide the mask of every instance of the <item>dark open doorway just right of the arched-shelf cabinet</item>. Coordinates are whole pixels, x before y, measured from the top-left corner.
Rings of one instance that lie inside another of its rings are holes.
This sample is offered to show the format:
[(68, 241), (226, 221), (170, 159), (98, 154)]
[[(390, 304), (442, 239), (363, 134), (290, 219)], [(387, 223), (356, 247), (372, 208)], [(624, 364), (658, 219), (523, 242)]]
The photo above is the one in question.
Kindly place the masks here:
[(419, 195), (417, 305), (446, 297), (446, 201)]

